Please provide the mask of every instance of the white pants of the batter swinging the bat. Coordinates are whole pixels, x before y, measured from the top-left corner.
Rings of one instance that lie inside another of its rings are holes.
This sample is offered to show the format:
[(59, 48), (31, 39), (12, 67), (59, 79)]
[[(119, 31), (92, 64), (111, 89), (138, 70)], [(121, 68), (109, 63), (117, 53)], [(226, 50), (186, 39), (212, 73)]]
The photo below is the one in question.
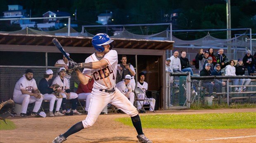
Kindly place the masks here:
[(93, 88), (88, 115), (86, 116), (85, 120), (82, 121), (83, 127), (92, 127), (103, 108), (109, 103), (121, 109), (124, 113), (130, 115), (131, 117), (138, 115), (137, 109), (118, 89), (116, 89), (115, 92), (106, 93)]

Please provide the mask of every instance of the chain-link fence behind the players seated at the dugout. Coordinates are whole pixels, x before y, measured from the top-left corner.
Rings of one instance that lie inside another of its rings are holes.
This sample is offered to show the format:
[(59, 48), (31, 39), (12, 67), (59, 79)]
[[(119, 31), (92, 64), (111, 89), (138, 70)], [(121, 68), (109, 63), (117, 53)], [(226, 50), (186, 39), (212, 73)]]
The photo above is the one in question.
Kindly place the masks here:
[[(28, 66), (0, 66), (0, 101), (7, 101), (8, 99), (13, 99), (13, 90), (15, 87), (16, 82), (21, 78), (26, 69), (32, 69), (34, 71), (33, 78), (36, 80), (36, 84), (38, 85), (39, 81), (43, 78), (45, 71), (47, 69), (52, 69), (53, 71), (53, 78), (52, 80), (58, 75), (59, 67), (28, 67)], [(82, 71), (83, 69), (81, 69)], [(116, 83), (121, 81), (119, 73), (116, 76)], [(80, 84), (76, 73), (72, 73), (70, 76), (70, 91), (76, 92), (76, 85)], [(48, 107), (49, 103), (45, 102), (46, 104), (44, 107)], [(85, 104), (85, 103), (83, 103)], [(71, 103), (67, 101), (67, 108), (71, 108)], [(31, 107), (30, 107), (31, 108)], [(82, 107), (78, 104), (78, 109), (82, 111)], [(111, 110), (111, 107), (109, 107)]]

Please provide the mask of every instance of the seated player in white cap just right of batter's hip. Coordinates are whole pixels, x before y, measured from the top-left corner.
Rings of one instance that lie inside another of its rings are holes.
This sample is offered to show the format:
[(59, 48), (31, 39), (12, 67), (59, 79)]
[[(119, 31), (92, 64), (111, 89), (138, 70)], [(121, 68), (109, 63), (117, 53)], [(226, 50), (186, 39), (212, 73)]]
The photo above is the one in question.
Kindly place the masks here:
[(116, 88), (118, 88), (123, 93), (123, 95), (125, 95), (130, 100), (130, 103), (133, 104), (134, 92), (132, 92), (130, 80), (131, 80), (131, 76), (127, 74), (123, 81), (116, 83)]

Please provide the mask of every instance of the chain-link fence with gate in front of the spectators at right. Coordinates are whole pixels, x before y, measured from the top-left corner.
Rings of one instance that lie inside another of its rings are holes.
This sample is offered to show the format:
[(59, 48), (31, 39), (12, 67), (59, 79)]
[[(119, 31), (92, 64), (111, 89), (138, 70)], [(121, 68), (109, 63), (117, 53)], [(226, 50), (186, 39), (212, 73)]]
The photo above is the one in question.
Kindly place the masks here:
[(256, 104), (256, 76), (166, 75), (169, 109)]

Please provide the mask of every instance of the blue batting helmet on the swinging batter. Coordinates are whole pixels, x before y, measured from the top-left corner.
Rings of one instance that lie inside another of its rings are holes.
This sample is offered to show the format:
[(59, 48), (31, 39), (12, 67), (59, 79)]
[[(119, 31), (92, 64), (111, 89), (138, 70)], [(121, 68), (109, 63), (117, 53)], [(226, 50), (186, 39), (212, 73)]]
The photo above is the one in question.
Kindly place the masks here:
[(94, 37), (92, 37), (92, 46), (100, 52), (103, 52), (105, 50), (105, 48), (102, 45), (110, 45), (110, 50), (113, 48), (113, 45), (111, 44), (111, 42), (113, 42), (114, 40), (111, 40), (109, 38), (109, 35), (105, 34), (105, 33), (99, 33), (97, 35), (95, 35)]

